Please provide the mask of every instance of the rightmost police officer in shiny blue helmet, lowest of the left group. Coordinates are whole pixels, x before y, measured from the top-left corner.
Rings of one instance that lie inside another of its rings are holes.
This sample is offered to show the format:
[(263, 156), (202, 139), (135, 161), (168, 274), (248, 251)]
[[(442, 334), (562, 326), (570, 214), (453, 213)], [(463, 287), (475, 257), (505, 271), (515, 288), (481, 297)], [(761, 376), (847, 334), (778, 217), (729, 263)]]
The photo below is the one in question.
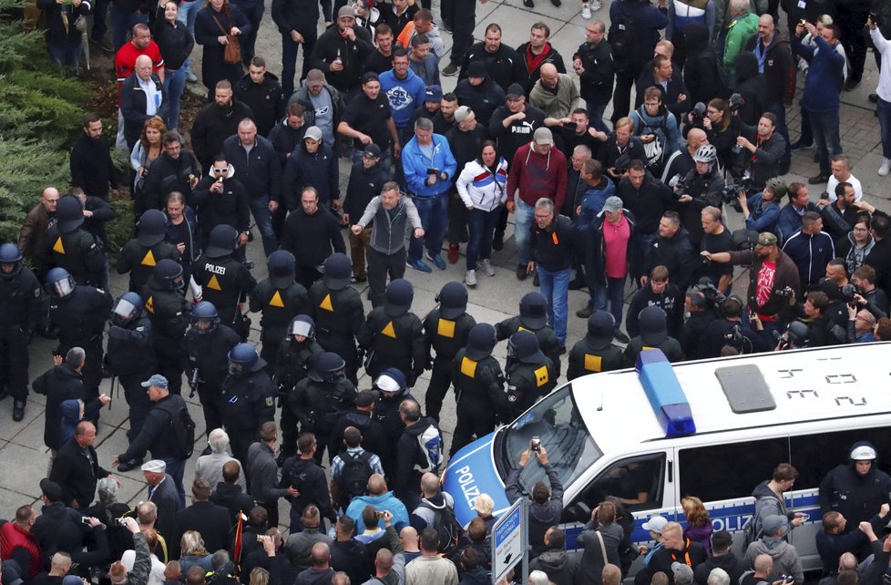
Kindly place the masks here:
[(232, 457), (248, 460), (248, 447), (260, 426), (275, 420), (275, 388), (266, 361), (251, 344), (229, 352), (229, 375), (222, 385), (222, 419), (229, 433)]

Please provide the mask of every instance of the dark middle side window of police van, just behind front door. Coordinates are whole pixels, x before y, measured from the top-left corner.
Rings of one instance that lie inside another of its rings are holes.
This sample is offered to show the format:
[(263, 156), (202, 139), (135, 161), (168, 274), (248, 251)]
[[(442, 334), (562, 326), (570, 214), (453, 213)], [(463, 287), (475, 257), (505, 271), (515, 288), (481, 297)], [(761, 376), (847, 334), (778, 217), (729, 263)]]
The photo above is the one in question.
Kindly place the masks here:
[(755, 486), (772, 477), (773, 467), (788, 460), (786, 437), (681, 449), (678, 498), (697, 496), (703, 502), (747, 498)]

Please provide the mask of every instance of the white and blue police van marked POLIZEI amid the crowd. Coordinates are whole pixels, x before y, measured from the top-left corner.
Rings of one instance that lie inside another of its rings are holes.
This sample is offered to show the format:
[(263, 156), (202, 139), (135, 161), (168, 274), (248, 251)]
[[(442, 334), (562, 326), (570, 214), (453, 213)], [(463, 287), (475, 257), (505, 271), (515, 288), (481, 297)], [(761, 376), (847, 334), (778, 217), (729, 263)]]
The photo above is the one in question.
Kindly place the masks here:
[[(638, 502), (626, 505), (638, 545), (650, 541), (641, 525), (651, 516), (686, 523), (686, 496), (701, 498), (713, 529), (729, 530), (740, 542), (753, 513), (753, 488), (788, 462), (800, 475), (785, 493), (786, 505), (809, 516), (789, 539), (804, 569), (817, 569), (820, 481), (847, 462), (858, 440), (876, 445), (878, 467), (889, 469), (889, 384), (891, 344), (673, 366), (661, 351), (645, 350), (636, 368), (577, 378), (510, 425), (461, 449), (443, 485), (463, 524), (476, 517), (475, 500), (482, 493), (495, 500), (497, 516), (509, 505), (508, 472), (538, 436), (565, 488), (561, 528), (567, 530), (568, 549), (575, 548), (589, 510), (608, 495)], [(539, 480), (547, 483), (548, 477), (532, 460), (520, 474), (521, 488), (528, 494)]]

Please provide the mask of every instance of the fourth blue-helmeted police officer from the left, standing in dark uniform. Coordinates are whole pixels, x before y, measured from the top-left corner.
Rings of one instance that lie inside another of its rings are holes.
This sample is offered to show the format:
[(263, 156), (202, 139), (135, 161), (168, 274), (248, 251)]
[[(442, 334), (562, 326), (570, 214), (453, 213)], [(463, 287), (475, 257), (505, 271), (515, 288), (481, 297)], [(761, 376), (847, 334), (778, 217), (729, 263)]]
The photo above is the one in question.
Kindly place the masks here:
[[(191, 326), (182, 338), (182, 352), (188, 356), (185, 365), (191, 392), (198, 392), (204, 410), (205, 432), (222, 426), (222, 384), (229, 375), (228, 356), (233, 347), (241, 343), (235, 331), (220, 323), (220, 315), (213, 303), (201, 301), (191, 311)], [(210, 454), (210, 446), (206, 449)]]

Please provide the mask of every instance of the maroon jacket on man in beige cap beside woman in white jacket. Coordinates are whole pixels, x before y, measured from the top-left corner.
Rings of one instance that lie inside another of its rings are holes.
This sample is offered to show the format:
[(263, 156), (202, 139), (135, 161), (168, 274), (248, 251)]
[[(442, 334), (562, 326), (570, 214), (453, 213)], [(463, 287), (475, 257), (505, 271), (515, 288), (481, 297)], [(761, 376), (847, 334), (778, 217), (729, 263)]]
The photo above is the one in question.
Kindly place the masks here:
[(555, 210), (561, 210), (566, 183), (566, 156), (554, 147), (546, 155), (538, 154), (529, 142), (517, 149), (507, 170), (507, 200), (513, 201), (519, 188), (520, 199), (528, 205), (547, 197), (554, 201)]

